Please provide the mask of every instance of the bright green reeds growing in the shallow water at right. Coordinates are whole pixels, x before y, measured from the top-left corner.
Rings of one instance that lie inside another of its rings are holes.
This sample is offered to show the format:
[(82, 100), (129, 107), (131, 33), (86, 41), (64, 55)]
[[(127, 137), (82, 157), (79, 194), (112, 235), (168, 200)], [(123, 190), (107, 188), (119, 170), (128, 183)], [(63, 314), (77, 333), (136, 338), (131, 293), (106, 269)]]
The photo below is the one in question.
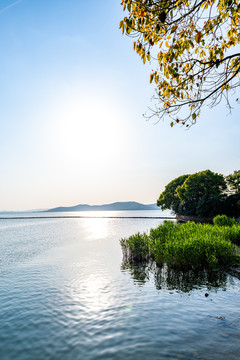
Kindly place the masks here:
[(156, 229), (120, 240), (125, 261), (154, 260), (179, 270), (229, 270), (239, 266), (240, 223), (217, 216), (213, 225), (165, 221)]

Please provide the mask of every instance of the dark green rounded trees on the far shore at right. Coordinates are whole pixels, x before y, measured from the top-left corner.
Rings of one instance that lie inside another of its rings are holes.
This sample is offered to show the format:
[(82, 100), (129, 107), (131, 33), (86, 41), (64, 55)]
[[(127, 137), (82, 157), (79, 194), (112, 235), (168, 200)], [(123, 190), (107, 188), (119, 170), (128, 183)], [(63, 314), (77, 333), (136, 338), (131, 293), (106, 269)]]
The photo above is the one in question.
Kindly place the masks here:
[[(234, 172), (234, 174), (236, 171)], [(213, 217), (218, 214), (240, 215), (239, 183), (229, 183), (232, 175), (223, 175), (210, 170), (192, 175), (182, 175), (172, 180), (160, 194), (157, 205), (176, 214), (199, 217)]]

